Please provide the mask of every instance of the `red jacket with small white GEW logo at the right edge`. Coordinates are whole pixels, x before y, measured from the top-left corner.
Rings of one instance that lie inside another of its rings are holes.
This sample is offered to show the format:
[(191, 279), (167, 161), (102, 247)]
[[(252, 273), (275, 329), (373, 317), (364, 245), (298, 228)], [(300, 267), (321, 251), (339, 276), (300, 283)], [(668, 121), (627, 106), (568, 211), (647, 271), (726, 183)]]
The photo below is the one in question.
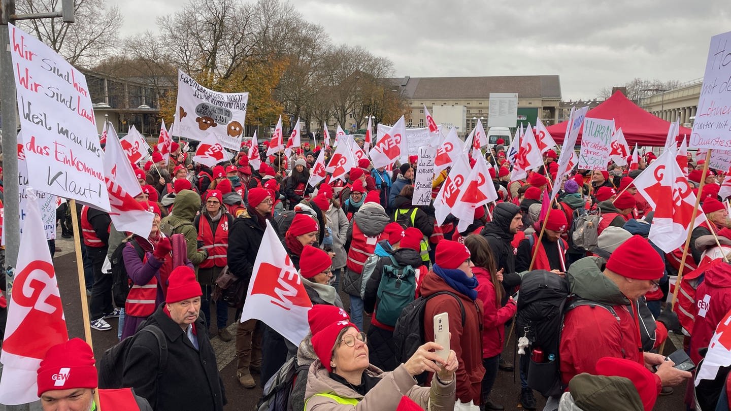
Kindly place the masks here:
[(731, 309), (731, 265), (720, 263), (708, 268), (705, 279), (695, 290), (695, 301), (690, 358), (698, 363), (702, 358), (698, 350), (708, 347), (716, 325), (719, 325)]

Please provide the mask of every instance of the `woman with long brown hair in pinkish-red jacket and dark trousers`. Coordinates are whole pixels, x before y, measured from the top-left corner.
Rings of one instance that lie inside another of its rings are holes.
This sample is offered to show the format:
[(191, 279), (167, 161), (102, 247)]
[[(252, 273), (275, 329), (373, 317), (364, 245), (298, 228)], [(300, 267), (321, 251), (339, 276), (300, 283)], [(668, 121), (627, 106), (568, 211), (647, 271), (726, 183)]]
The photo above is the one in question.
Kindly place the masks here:
[(482, 235), (467, 235), (464, 245), (471, 254), (477, 282), (477, 298), (482, 301), (482, 366), (485, 377), (482, 377), (482, 405), (484, 410), (504, 410), (500, 404), (491, 401), (490, 391), (493, 389), (498, 375), (500, 353), (505, 344), (505, 323), (515, 315), (515, 301), (510, 297), (505, 306), (500, 301), (504, 295), (502, 287), (502, 270), (496, 271), (495, 259), (490, 243)]

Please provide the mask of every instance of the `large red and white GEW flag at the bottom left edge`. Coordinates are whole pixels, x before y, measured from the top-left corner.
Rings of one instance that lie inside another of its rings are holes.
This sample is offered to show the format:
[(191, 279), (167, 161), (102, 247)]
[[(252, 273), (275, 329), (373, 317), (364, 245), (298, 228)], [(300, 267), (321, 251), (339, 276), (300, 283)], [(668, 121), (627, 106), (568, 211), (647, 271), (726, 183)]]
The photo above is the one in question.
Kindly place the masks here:
[(0, 403), (6, 405), (37, 401), (42, 358), (50, 347), (69, 339), (38, 199), (32, 189), (26, 194), (25, 225), (0, 354)]

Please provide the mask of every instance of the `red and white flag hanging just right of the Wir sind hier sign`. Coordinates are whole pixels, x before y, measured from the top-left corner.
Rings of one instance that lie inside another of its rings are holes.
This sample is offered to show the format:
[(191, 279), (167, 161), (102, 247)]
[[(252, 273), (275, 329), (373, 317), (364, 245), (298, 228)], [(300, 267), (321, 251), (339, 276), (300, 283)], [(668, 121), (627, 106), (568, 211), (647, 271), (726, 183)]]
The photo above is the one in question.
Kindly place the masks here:
[(142, 204), (135, 200), (135, 196), (142, 192), (142, 187), (135, 177), (132, 165), (125, 161), (124, 150), (122, 150), (117, 132), (111, 124), (108, 130), (109, 140), (104, 155), (104, 176), (107, 181), (111, 206), (109, 217), (118, 231), (127, 231), (147, 238), (150, 235), (152, 219), (155, 215), (145, 210)]

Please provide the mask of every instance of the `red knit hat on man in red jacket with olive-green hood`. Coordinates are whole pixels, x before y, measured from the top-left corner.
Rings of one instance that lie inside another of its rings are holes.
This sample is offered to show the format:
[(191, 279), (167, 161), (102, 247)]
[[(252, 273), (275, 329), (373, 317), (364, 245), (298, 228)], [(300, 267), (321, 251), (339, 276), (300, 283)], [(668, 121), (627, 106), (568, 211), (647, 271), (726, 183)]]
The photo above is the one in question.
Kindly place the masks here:
[(607, 269), (629, 279), (659, 279), (665, 264), (646, 238), (632, 235), (614, 250)]

